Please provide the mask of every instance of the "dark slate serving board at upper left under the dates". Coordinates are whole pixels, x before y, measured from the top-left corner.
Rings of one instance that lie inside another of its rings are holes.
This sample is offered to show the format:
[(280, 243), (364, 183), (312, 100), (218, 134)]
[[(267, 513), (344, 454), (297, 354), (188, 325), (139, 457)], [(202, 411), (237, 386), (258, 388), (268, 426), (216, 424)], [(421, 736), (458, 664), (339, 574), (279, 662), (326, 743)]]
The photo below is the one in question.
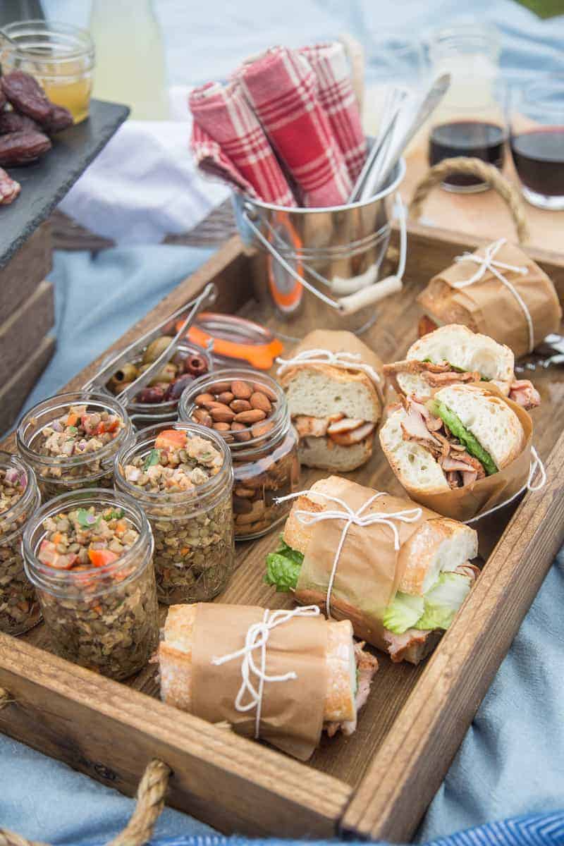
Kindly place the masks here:
[(92, 100), (90, 118), (55, 135), (52, 150), (39, 162), (6, 168), (21, 184), (21, 193), (10, 206), (0, 206), (0, 268), (49, 216), (128, 114), (127, 106)]

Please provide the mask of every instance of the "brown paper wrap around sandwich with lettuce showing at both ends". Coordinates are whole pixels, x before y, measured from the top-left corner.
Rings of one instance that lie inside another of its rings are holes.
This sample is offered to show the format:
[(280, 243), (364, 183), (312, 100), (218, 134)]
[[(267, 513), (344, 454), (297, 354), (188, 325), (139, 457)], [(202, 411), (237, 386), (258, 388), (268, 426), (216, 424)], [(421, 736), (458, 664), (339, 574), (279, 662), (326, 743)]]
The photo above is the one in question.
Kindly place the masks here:
[[(340, 476), (331, 476), (331, 496), (339, 497), (355, 512), (374, 494), (375, 491), (368, 487)], [(324, 511), (342, 510), (337, 503), (323, 497), (318, 502)], [(417, 508), (417, 505), (409, 499), (386, 493), (375, 499), (363, 515), (374, 512), (392, 514), (412, 508)], [(394, 549), (394, 535), (389, 526), (351, 525), (337, 563), (331, 591), (331, 616), (337, 620), (349, 619), (358, 637), (383, 651), (388, 651), (382, 623), (384, 611), (396, 595), (405, 571), (402, 547), (425, 520), (439, 516), (428, 508), (420, 510), (420, 518), (413, 523), (393, 521), (399, 534), (399, 551)], [(314, 525), (298, 576), (297, 602), (325, 607), (333, 561), (345, 524), (344, 519), (326, 519)]]

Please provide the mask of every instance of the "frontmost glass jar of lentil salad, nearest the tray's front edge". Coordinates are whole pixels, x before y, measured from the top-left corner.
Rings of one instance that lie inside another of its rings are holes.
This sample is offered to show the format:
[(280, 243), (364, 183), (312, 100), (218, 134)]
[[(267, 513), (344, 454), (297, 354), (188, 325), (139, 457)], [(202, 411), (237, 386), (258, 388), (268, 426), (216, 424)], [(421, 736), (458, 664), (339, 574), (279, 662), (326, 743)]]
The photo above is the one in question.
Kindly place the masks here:
[[(139, 537), (112, 563), (55, 569), (38, 558), (44, 521), (74, 508), (119, 508)], [(65, 493), (40, 508), (24, 531), (25, 573), (35, 585), (52, 649), (110, 678), (128, 678), (151, 658), (159, 640), (153, 536), (129, 497), (104, 488)]]

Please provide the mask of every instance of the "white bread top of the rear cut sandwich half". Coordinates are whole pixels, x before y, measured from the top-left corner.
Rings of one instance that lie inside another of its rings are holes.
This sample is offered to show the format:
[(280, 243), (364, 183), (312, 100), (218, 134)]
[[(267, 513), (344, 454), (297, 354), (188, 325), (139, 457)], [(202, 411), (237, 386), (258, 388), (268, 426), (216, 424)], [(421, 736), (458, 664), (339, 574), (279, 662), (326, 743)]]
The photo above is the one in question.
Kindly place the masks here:
[[(459, 324), (442, 326), (419, 338), (408, 349), (406, 360), (446, 361), (462, 371), (478, 372), (506, 397), (515, 379), (515, 357), (509, 347)], [(420, 373), (398, 372), (397, 383), (406, 396), (425, 398), (432, 393), (430, 383)]]

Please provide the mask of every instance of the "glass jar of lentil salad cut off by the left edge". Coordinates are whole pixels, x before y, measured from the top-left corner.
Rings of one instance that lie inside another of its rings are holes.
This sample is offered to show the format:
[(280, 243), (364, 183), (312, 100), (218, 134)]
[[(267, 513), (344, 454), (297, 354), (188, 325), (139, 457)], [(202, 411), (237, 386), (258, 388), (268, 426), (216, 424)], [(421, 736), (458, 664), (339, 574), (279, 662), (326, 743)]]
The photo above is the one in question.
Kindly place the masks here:
[(0, 453), (2, 477), (19, 479), (24, 491), (0, 512), (0, 631), (22, 634), (41, 620), (36, 591), (24, 571), (21, 539), (26, 522), (41, 503), (36, 475), (17, 455)]

